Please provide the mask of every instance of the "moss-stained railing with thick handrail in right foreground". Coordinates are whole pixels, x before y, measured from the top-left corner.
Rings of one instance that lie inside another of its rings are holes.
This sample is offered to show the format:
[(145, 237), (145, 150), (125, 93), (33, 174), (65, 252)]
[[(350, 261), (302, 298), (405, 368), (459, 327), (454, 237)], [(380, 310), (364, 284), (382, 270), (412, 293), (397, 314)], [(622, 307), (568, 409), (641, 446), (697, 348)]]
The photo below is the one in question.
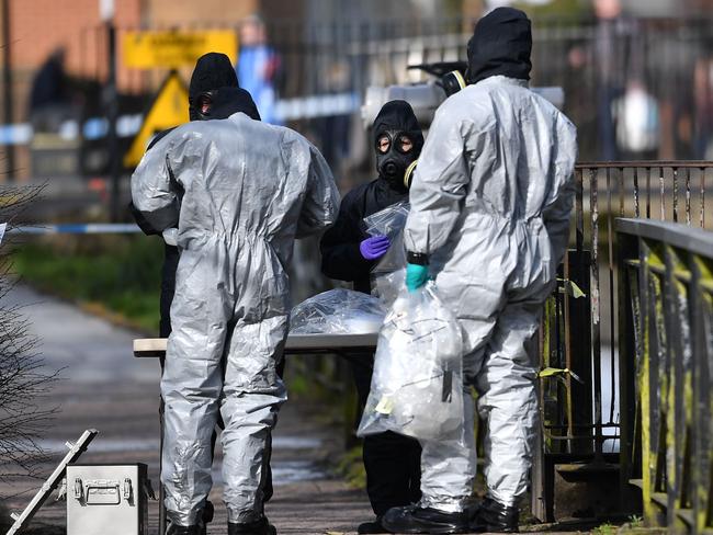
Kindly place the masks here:
[(622, 480), (648, 525), (713, 531), (713, 234), (619, 219)]

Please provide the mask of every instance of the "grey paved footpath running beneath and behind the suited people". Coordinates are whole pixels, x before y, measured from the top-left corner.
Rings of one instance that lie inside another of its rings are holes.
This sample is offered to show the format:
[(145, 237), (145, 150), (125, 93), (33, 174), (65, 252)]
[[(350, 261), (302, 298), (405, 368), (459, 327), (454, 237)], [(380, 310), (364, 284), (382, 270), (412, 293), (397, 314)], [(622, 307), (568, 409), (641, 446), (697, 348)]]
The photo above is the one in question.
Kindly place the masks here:
[[(147, 463), (156, 487), (159, 372), (155, 360), (133, 358), (132, 340), (140, 335), (24, 286), (18, 287), (10, 299), (26, 305), (24, 311), (41, 339), (48, 368), (65, 368), (64, 379), (44, 401), (60, 410), (43, 437), (54, 456), (42, 473), (48, 475), (54, 469), (65, 453), (66, 441), (95, 428), (100, 434), (80, 462)], [(354, 526), (372, 514), (363, 491), (351, 490), (327, 474), (327, 455), (340, 447), (339, 433), (318, 423), (324, 421), (318, 411), (319, 407), (288, 402), (280, 416), (273, 454), (275, 493), (267, 513), (281, 534), (353, 533)], [(215, 464), (211, 499), (217, 506), (208, 533), (224, 535), (227, 527), (219, 453)], [(14, 481), (12, 487), (0, 483), (3, 504), (22, 510), (32, 497), (27, 491), (38, 485), (29, 479)], [(29, 533), (64, 533), (65, 506), (53, 496), (35, 515)], [(149, 515), (148, 535), (155, 535), (157, 502), (150, 502)]]

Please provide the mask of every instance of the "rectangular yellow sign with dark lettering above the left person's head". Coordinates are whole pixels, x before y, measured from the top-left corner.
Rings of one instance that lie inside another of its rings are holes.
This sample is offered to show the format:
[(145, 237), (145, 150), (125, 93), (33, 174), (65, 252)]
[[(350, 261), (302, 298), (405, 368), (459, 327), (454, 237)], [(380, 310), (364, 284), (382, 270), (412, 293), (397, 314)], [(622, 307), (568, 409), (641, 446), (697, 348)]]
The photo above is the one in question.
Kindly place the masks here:
[(233, 64), (238, 54), (238, 37), (229, 30), (126, 32), (124, 65), (135, 69), (193, 66), (210, 52), (226, 54)]

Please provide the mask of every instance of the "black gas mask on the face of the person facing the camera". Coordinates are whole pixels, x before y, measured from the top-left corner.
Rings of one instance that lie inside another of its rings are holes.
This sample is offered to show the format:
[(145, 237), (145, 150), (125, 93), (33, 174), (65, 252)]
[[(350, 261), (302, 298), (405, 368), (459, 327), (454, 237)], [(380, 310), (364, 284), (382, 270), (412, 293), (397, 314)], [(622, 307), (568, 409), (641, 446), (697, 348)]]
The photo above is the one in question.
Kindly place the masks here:
[(407, 191), (416, 169), (420, 146), (411, 135), (401, 130), (376, 134), (376, 168), (378, 175), (397, 191)]

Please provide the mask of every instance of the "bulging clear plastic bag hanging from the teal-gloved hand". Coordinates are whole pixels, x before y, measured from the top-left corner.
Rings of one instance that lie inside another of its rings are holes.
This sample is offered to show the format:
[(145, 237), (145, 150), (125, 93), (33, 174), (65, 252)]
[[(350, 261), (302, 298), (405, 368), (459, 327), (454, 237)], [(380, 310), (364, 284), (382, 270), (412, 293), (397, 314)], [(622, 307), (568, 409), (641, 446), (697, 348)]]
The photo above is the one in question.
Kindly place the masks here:
[(434, 284), (405, 288), (378, 333), (358, 435), (394, 431), (421, 442), (463, 429), (461, 328)]

